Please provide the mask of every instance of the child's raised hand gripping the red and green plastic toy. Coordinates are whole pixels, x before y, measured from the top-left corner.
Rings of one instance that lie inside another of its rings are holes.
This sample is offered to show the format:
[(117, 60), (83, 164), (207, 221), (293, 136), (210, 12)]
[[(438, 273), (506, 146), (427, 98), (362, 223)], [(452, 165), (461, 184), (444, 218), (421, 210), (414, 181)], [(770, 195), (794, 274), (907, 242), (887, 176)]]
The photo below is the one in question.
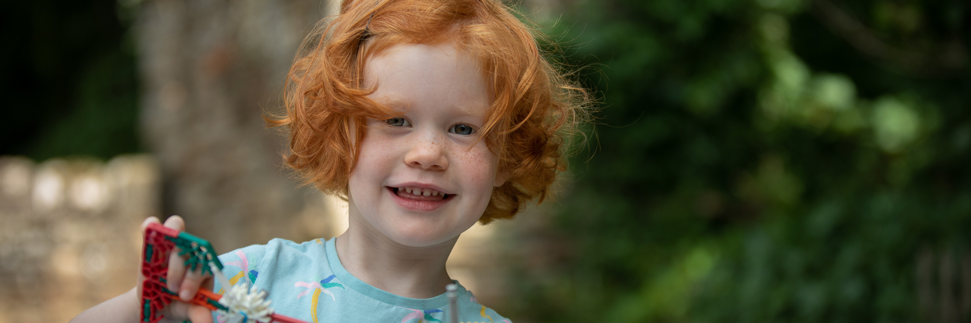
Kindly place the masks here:
[[(150, 223), (159, 223), (158, 218), (150, 216), (142, 222), (143, 237), (145, 236), (145, 228), (148, 227)], [(183, 231), (185, 228), (185, 222), (181, 216), (172, 215), (165, 220), (164, 226), (177, 231)], [(188, 319), (193, 323), (212, 323), (213, 313), (209, 310), (209, 308), (186, 303), (192, 300), (192, 297), (195, 296), (195, 293), (200, 287), (203, 287), (203, 284), (205, 284), (206, 288), (213, 288), (212, 275), (202, 275), (201, 268), (196, 268), (195, 271), (186, 271), (184, 261), (185, 258), (179, 256), (179, 248), (173, 248), (172, 252), (169, 254), (169, 271), (166, 279), (166, 288), (172, 292), (178, 293), (179, 298), (183, 302), (173, 301), (168, 307), (162, 309), (162, 314), (165, 315), (166, 319), (173, 322), (182, 322)], [(139, 299), (142, 297), (143, 279), (145, 279), (145, 277), (142, 276), (141, 271), (139, 271), (137, 291)], [(139, 304), (141, 304), (141, 302), (139, 302)]]

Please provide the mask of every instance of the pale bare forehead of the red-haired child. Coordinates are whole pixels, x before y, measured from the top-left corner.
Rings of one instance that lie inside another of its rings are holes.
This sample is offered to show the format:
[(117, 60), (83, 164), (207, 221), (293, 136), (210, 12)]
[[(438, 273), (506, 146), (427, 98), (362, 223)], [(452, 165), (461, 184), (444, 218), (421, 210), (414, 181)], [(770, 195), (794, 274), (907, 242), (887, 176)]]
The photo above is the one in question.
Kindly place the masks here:
[(451, 42), (385, 48), (365, 63), (364, 85), (377, 85), (369, 97), (392, 105), (454, 108), (483, 115), (489, 104), (477, 57)]

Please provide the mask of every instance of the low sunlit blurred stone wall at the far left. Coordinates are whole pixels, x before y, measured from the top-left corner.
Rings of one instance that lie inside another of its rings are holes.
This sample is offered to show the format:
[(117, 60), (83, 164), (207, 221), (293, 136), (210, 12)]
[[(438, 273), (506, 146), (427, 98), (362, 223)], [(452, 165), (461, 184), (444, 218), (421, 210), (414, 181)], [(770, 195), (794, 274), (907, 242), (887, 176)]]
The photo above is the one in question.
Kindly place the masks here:
[(148, 155), (0, 157), (0, 323), (67, 322), (134, 287), (159, 196)]

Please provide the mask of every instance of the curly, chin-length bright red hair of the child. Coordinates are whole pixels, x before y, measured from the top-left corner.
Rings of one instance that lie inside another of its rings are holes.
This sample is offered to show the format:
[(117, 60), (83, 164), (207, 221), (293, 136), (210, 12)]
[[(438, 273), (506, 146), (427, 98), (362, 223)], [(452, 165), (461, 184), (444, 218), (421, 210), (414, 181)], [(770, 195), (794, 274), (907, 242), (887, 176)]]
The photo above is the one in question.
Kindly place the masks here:
[(268, 126), (289, 131), (285, 164), (305, 184), (347, 198), (367, 119), (395, 114), (366, 97), (374, 91), (362, 85), (367, 58), (397, 44), (454, 42), (481, 62), (493, 101), (480, 139), (509, 174), (480, 222), (510, 218), (546, 198), (590, 103), (544, 58), (539, 37), (495, 0), (345, 0), (304, 41), (288, 74), (285, 114), (268, 117)]

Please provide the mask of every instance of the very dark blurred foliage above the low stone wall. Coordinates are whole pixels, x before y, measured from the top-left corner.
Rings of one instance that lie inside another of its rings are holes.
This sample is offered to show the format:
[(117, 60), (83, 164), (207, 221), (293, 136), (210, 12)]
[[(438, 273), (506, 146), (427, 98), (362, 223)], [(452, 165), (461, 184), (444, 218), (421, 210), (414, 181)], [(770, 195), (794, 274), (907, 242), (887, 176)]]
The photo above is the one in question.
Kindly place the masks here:
[(134, 44), (118, 14), (114, 0), (14, 1), (0, 11), (0, 154), (140, 150)]

